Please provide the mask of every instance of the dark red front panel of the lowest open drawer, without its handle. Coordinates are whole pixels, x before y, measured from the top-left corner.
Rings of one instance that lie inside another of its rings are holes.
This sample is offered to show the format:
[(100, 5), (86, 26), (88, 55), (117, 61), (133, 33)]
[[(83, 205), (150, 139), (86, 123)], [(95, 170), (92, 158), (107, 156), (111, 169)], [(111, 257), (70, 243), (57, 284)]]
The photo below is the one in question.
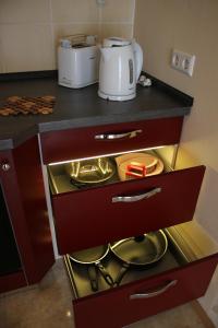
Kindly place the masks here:
[[(218, 255), (121, 288), (73, 301), (76, 328), (119, 328), (205, 294), (218, 261)], [(130, 300), (150, 293), (172, 281), (174, 285), (149, 298)]]

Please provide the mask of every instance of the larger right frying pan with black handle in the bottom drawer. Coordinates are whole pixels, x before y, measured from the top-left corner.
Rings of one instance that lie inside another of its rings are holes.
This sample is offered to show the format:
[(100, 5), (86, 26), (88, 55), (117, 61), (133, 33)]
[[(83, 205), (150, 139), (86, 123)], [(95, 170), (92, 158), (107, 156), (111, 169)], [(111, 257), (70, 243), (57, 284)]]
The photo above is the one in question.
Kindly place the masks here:
[(157, 262), (166, 254), (168, 241), (159, 230), (110, 244), (111, 251), (122, 261), (122, 268), (114, 281), (119, 285), (129, 268), (143, 268)]

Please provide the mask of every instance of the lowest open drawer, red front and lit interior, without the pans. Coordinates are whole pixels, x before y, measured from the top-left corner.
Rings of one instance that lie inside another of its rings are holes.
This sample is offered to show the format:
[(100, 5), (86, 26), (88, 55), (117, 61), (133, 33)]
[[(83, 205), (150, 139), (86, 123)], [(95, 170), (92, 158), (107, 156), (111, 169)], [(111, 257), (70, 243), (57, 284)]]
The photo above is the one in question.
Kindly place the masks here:
[[(99, 274), (98, 292), (90, 289), (87, 268), (65, 256), (76, 328), (123, 327), (204, 295), (218, 262), (218, 246), (194, 221), (165, 232), (169, 247), (161, 261), (130, 269), (120, 286), (107, 285)], [(108, 258), (104, 266), (114, 278), (121, 265)]]

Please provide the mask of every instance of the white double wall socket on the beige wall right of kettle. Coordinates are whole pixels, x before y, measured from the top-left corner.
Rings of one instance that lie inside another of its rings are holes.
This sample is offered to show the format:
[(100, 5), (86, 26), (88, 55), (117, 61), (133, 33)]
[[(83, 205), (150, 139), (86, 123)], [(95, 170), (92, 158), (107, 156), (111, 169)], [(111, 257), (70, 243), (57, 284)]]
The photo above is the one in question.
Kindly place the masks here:
[(173, 49), (171, 57), (171, 67), (189, 77), (192, 77), (195, 63), (195, 56)]

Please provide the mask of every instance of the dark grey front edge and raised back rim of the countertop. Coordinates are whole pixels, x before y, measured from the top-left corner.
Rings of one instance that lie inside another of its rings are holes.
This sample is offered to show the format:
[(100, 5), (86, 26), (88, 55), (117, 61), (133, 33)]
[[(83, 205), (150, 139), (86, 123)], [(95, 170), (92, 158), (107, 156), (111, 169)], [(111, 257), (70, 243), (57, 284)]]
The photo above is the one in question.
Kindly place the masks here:
[[(180, 98), (184, 106), (179, 106), (172, 108), (166, 108), (165, 110), (145, 110), (138, 112), (134, 114), (123, 114), (123, 115), (106, 115), (106, 116), (94, 116), (94, 117), (81, 117), (73, 119), (61, 119), (56, 121), (45, 121), (45, 122), (35, 122), (27, 127), (21, 129), (21, 131), (16, 133), (9, 133), (7, 137), (1, 139), (0, 134), (0, 151), (7, 151), (14, 149), (36, 136), (37, 133), (44, 133), (49, 131), (59, 131), (65, 129), (73, 128), (83, 128), (83, 127), (92, 127), (92, 126), (102, 126), (110, 124), (122, 124), (122, 122), (131, 122), (131, 121), (141, 121), (141, 120), (149, 120), (157, 118), (167, 118), (167, 117), (178, 117), (178, 116), (186, 116), (191, 112), (191, 107), (193, 105), (193, 97), (182, 93), (181, 91), (168, 85), (167, 83), (145, 73), (147, 78), (150, 78), (153, 81), (153, 85), (161, 89), (164, 92), (172, 95), (173, 97)], [(0, 74), (0, 82), (9, 82), (14, 80), (26, 80), (26, 79), (47, 79), (47, 78), (57, 78), (57, 71), (38, 71), (38, 72), (22, 72), (22, 73), (8, 73)]]

